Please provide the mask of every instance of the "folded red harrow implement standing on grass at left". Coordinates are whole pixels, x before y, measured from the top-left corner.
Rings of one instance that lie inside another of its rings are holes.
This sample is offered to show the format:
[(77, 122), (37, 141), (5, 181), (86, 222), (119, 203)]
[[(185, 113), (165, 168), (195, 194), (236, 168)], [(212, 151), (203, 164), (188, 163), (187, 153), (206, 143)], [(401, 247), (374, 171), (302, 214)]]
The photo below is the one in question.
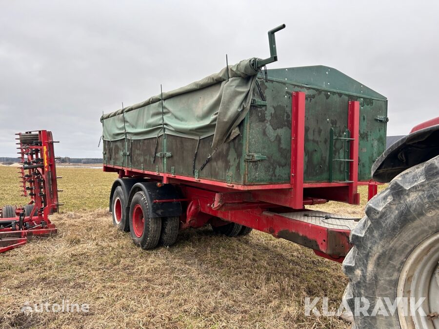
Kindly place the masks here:
[(58, 190), (52, 133), (46, 130), (17, 134), (22, 167), (19, 174), (25, 206), (4, 206), (0, 210), (0, 252), (24, 245), (29, 237), (57, 233), (49, 215), (58, 212)]

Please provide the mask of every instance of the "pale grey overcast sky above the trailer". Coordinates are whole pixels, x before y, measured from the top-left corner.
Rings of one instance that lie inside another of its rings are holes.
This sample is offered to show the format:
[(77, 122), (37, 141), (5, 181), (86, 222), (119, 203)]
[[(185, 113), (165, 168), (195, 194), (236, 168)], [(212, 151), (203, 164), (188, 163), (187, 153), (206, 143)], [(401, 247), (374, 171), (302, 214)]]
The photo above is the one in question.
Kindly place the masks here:
[(0, 156), (52, 130), (56, 153), (101, 157), (102, 111), (244, 58), (327, 65), (389, 99), (388, 135), (439, 115), (439, 1), (0, 0)]

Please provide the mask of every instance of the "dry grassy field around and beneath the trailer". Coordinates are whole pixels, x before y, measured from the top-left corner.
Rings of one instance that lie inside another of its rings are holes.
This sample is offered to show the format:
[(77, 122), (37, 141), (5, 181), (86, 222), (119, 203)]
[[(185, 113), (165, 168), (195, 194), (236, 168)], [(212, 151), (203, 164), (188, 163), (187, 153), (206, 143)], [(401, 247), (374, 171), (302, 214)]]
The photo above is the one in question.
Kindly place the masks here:
[[(20, 197), (16, 168), (0, 167), (0, 205)], [(209, 228), (181, 232), (175, 246), (144, 251), (113, 228), (114, 174), (59, 168), (58, 235), (0, 254), (0, 328), (350, 328), (305, 316), (304, 298), (336, 309), (341, 265), (271, 235), (239, 238)], [(367, 191), (362, 188), (363, 194)], [(315, 208), (361, 216), (365, 204)], [(21, 313), (24, 303), (89, 304), (88, 313)]]

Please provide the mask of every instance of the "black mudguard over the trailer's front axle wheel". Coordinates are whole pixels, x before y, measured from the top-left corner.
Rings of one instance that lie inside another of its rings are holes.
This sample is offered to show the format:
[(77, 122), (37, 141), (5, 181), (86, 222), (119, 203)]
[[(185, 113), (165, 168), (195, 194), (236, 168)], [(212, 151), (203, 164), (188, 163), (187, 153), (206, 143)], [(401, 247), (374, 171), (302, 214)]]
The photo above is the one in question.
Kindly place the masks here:
[(158, 200), (180, 199), (180, 194), (174, 185), (163, 184), (161, 187), (157, 187), (156, 182), (138, 182), (133, 185), (127, 202), (128, 211), (134, 194), (140, 191), (146, 196), (149, 217), (180, 216), (182, 214), (180, 201), (154, 202)]

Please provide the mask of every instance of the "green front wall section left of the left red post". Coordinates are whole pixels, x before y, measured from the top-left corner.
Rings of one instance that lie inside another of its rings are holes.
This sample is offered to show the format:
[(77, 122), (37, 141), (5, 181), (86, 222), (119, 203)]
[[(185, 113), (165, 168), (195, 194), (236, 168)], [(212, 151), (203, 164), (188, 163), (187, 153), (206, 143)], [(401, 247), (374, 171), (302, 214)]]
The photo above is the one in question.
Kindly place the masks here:
[[(289, 183), (291, 167), (291, 92), (286, 84), (259, 81), (267, 106), (251, 106), (246, 117), (245, 154), (265, 156), (244, 161), (246, 184)], [(253, 98), (261, 99), (255, 88)]]

